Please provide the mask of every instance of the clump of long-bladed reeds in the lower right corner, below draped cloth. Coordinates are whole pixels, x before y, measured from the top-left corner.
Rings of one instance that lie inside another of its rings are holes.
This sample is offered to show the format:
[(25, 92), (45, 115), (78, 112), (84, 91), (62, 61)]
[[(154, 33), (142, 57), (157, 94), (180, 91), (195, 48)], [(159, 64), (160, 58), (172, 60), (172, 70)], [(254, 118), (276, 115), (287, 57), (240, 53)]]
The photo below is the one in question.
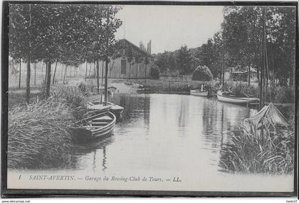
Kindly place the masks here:
[(253, 133), (231, 134), (231, 143), (224, 150), (226, 160), (221, 165), (228, 172), (292, 174), (294, 171), (294, 128), (266, 129), (266, 138)]

